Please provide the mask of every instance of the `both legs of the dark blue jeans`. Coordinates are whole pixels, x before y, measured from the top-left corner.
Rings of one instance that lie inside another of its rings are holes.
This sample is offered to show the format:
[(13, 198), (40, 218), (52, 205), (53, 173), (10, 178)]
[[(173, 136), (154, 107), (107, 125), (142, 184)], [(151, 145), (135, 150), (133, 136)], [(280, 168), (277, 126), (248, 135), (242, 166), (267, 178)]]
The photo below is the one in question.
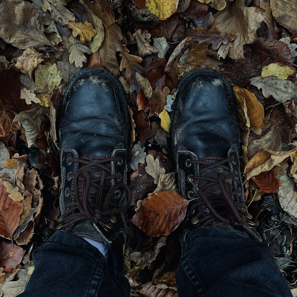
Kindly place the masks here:
[[(33, 253), (35, 269), (24, 293), (34, 297), (129, 296), (129, 282), (76, 235), (57, 231)], [(291, 297), (264, 244), (216, 227), (199, 227), (186, 240), (178, 267), (179, 297)]]

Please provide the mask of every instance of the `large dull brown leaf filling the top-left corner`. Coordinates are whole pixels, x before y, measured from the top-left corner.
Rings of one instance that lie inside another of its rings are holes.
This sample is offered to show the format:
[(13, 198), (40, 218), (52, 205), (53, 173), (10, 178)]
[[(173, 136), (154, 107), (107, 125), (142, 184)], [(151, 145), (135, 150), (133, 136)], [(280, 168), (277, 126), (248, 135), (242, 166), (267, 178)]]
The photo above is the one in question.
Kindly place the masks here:
[(4, 0), (0, 15), (0, 38), (5, 42), (21, 49), (51, 45), (43, 33), (38, 10), (28, 1)]

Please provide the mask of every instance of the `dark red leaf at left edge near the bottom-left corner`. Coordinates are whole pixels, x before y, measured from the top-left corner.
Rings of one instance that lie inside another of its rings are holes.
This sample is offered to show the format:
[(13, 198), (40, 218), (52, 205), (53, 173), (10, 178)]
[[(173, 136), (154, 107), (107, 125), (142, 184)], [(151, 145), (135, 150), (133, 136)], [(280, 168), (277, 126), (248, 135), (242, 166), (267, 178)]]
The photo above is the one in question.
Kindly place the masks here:
[(3, 271), (10, 272), (13, 269), (16, 269), (23, 260), (25, 252), (26, 251), (21, 247), (10, 243), (0, 242), (0, 266), (4, 268)]

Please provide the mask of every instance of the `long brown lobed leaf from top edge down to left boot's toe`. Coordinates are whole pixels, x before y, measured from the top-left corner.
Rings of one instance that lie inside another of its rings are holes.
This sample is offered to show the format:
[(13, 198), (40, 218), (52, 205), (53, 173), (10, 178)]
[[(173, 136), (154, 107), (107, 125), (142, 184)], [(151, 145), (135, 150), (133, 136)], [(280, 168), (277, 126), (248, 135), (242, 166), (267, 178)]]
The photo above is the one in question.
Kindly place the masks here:
[(84, 3), (103, 23), (105, 36), (99, 48), (102, 66), (118, 75), (119, 64), (116, 59), (116, 52), (123, 52), (124, 48), (120, 43), (123, 35), (120, 27), (115, 23), (114, 12), (107, 6), (105, 0), (94, 0), (94, 2), (84, 0)]

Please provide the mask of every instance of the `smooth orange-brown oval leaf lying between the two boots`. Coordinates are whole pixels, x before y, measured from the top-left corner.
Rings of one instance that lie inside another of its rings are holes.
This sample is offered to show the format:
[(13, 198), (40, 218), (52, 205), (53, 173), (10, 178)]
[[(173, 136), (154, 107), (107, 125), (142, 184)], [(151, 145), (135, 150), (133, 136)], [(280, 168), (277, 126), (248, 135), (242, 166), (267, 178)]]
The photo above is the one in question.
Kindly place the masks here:
[(143, 201), (131, 222), (149, 236), (168, 235), (183, 221), (188, 204), (177, 193), (154, 193)]

